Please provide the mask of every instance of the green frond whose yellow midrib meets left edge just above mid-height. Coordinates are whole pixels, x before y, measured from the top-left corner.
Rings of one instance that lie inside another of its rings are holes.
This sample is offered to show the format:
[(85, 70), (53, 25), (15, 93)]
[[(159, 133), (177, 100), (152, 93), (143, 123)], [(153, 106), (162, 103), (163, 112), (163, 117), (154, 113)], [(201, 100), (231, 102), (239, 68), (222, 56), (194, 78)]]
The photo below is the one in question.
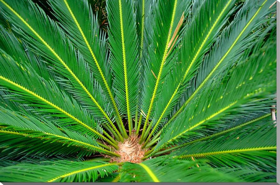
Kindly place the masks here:
[[(90, 115), (65, 93), (61, 92), (52, 81), (45, 81), (31, 68), (18, 66), (16, 62), (7, 54), (2, 52), (0, 57), (1, 85), (7, 87), (8, 91), (16, 93), (10, 98), (20, 101), (29, 106), (35, 106), (35, 111), (47, 112), (49, 115), (61, 117), (57, 119), (58, 125), (70, 126), (70, 130), (75, 130), (82, 134), (95, 135), (110, 144), (114, 141), (102, 135), (102, 129), (94, 122)], [(17, 74), (16, 76), (14, 74)], [(58, 98), (59, 97), (59, 98)], [(80, 109), (80, 110), (79, 110)], [(77, 111), (79, 110), (79, 111)], [(74, 124), (76, 126), (71, 125)], [(109, 136), (106, 134), (107, 137)], [(115, 145), (114, 145), (115, 146)]]

